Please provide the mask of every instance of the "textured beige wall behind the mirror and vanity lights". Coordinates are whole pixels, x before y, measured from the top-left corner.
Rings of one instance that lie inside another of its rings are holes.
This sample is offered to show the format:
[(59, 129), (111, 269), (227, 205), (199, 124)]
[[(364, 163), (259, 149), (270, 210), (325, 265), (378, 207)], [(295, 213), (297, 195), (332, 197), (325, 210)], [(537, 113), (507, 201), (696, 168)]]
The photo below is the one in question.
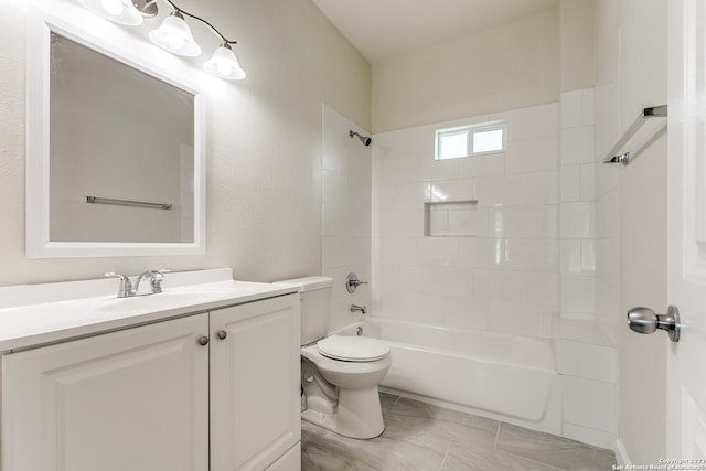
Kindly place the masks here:
[[(236, 278), (255, 281), (321, 272), (321, 104), (370, 128), (371, 68), (309, 0), (184, 2), (238, 40), (248, 73), (242, 82), (207, 76), (201, 71), (207, 57), (182, 60), (152, 46), (146, 38), (154, 22), (125, 29), (77, 2), (40, 3), (189, 74), (207, 95), (206, 254), (72, 260), (24, 256), (26, 3), (0, 3), (0, 285), (159, 267), (233, 267)], [(217, 39), (196, 23), (192, 31), (210, 55)]]

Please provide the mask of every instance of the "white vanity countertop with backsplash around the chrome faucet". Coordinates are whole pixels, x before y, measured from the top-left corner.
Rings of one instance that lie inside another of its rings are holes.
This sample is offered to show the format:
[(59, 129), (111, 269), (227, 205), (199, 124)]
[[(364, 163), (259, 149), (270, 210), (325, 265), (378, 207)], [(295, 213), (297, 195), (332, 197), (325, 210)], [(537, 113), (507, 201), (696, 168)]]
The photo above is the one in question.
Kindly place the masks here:
[(118, 286), (96, 279), (0, 287), (0, 352), (297, 292), (235, 281), (229, 268), (167, 274), (157, 295), (118, 298)]

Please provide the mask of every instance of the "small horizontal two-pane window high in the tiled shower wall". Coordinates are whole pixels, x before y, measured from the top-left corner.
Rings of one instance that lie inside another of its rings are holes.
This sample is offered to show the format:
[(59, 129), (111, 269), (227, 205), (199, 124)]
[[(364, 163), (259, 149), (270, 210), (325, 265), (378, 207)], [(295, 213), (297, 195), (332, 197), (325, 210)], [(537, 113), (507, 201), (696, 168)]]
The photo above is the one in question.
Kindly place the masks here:
[(437, 160), (458, 159), (505, 150), (503, 122), (437, 129)]

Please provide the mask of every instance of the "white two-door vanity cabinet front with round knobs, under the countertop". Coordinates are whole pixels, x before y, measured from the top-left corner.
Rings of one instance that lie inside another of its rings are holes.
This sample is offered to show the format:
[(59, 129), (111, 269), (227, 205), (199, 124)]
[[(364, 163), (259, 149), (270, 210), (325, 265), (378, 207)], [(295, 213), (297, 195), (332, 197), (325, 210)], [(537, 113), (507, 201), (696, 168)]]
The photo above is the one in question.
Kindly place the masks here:
[(298, 295), (8, 353), (2, 471), (298, 470), (299, 381)]

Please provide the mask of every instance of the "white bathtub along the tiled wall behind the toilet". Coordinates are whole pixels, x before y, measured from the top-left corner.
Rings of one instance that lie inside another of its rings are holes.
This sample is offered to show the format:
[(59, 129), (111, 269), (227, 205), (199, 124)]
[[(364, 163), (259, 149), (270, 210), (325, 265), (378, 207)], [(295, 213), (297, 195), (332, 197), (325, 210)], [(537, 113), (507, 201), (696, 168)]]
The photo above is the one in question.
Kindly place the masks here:
[(368, 318), (339, 333), (389, 343), (381, 389), (560, 433), (560, 382), (548, 340)]

